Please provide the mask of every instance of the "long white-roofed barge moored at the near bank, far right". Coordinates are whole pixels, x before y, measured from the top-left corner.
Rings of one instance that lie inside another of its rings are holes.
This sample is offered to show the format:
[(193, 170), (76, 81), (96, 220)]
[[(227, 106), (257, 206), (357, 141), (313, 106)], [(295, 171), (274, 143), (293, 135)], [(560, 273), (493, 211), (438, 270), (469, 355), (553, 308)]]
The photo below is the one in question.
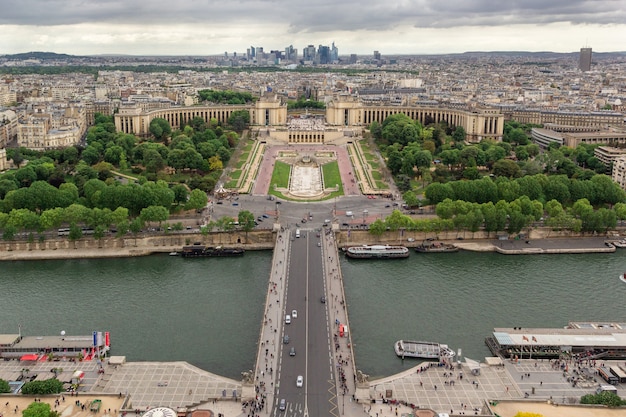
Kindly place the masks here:
[(496, 328), (485, 343), (511, 359), (626, 359), (626, 323), (571, 322), (564, 328)]

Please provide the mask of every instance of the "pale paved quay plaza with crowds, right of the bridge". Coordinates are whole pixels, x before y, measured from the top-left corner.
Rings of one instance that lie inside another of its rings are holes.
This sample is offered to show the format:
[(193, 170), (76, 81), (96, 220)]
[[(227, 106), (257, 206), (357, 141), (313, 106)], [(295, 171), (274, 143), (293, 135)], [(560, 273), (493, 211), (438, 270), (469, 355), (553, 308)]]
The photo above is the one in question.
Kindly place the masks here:
[[(617, 363), (607, 361), (605, 365)], [(594, 367), (579, 370), (570, 366), (564, 370), (555, 361), (532, 359), (485, 360), (478, 367), (476, 364), (418, 363), (399, 374), (371, 381), (373, 402), (363, 407), (371, 417), (393, 416), (396, 407), (401, 407), (402, 412), (434, 410), (451, 416), (513, 417), (519, 411), (541, 412), (545, 417), (613, 417), (626, 413), (624, 408), (615, 413), (607, 408), (578, 404), (581, 396), (595, 394), (602, 381), (591, 378), (588, 383), (572, 386), (571, 378), (580, 372), (594, 375)], [(618, 386), (618, 394), (626, 394), (623, 384)], [(538, 404), (546, 407), (535, 411)], [(569, 414), (560, 412), (562, 406)]]

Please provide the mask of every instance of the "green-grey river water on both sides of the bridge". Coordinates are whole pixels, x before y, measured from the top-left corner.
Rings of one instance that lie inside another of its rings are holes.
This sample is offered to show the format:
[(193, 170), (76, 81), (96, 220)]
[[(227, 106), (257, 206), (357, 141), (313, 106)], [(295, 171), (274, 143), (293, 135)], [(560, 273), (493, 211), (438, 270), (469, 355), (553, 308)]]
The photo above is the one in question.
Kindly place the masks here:
[[(110, 331), (129, 361), (188, 361), (239, 378), (252, 369), (271, 252), (243, 258), (2, 263), (0, 333)], [(406, 260), (341, 260), (356, 363), (371, 376), (414, 366), (398, 339), (447, 343), (489, 355), (494, 327), (561, 327), (626, 321), (623, 253), (505, 256), (411, 254)]]

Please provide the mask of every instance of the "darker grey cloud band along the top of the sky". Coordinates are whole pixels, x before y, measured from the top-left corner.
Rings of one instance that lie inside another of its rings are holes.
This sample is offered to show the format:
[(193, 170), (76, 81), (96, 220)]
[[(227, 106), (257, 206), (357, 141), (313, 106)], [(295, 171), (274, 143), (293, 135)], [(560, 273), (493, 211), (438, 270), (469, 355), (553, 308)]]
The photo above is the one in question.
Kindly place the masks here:
[(623, 24), (626, 0), (5, 0), (0, 24), (288, 24), (290, 32)]

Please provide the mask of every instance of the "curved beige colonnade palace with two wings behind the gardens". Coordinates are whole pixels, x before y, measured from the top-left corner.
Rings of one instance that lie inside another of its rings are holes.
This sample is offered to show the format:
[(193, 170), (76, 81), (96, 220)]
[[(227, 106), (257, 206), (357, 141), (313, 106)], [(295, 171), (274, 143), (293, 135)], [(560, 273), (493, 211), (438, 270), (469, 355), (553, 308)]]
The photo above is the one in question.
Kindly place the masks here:
[(147, 136), (150, 134), (150, 122), (157, 117), (167, 120), (173, 129), (178, 129), (182, 123), (194, 117), (201, 117), (207, 123), (211, 119), (227, 123), (233, 112), (241, 110), (250, 113), (251, 126), (276, 129), (276, 135), (273, 136), (287, 143), (325, 143), (339, 136), (354, 136), (355, 130), (360, 131), (374, 121), (382, 123), (387, 117), (399, 113), (419, 120), (422, 124), (447, 122), (451, 126), (462, 126), (469, 142), (480, 142), (486, 138), (501, 140), (504, 131), (504, 115), (498, 109), (468, 109), (419, 103), (403, 106), (367, 105), (358, 99), (344, 97), (333, 99), (327, 104), (324, 131), (293, 131), (287, 127), (287, 104), (276, 95), (263, 96), (255, 103), (247, 105), (169, 107), (148, 111), (139, 107), (121, 107), (115, 114), (115, 127), (117, 131), (124, 133)]

